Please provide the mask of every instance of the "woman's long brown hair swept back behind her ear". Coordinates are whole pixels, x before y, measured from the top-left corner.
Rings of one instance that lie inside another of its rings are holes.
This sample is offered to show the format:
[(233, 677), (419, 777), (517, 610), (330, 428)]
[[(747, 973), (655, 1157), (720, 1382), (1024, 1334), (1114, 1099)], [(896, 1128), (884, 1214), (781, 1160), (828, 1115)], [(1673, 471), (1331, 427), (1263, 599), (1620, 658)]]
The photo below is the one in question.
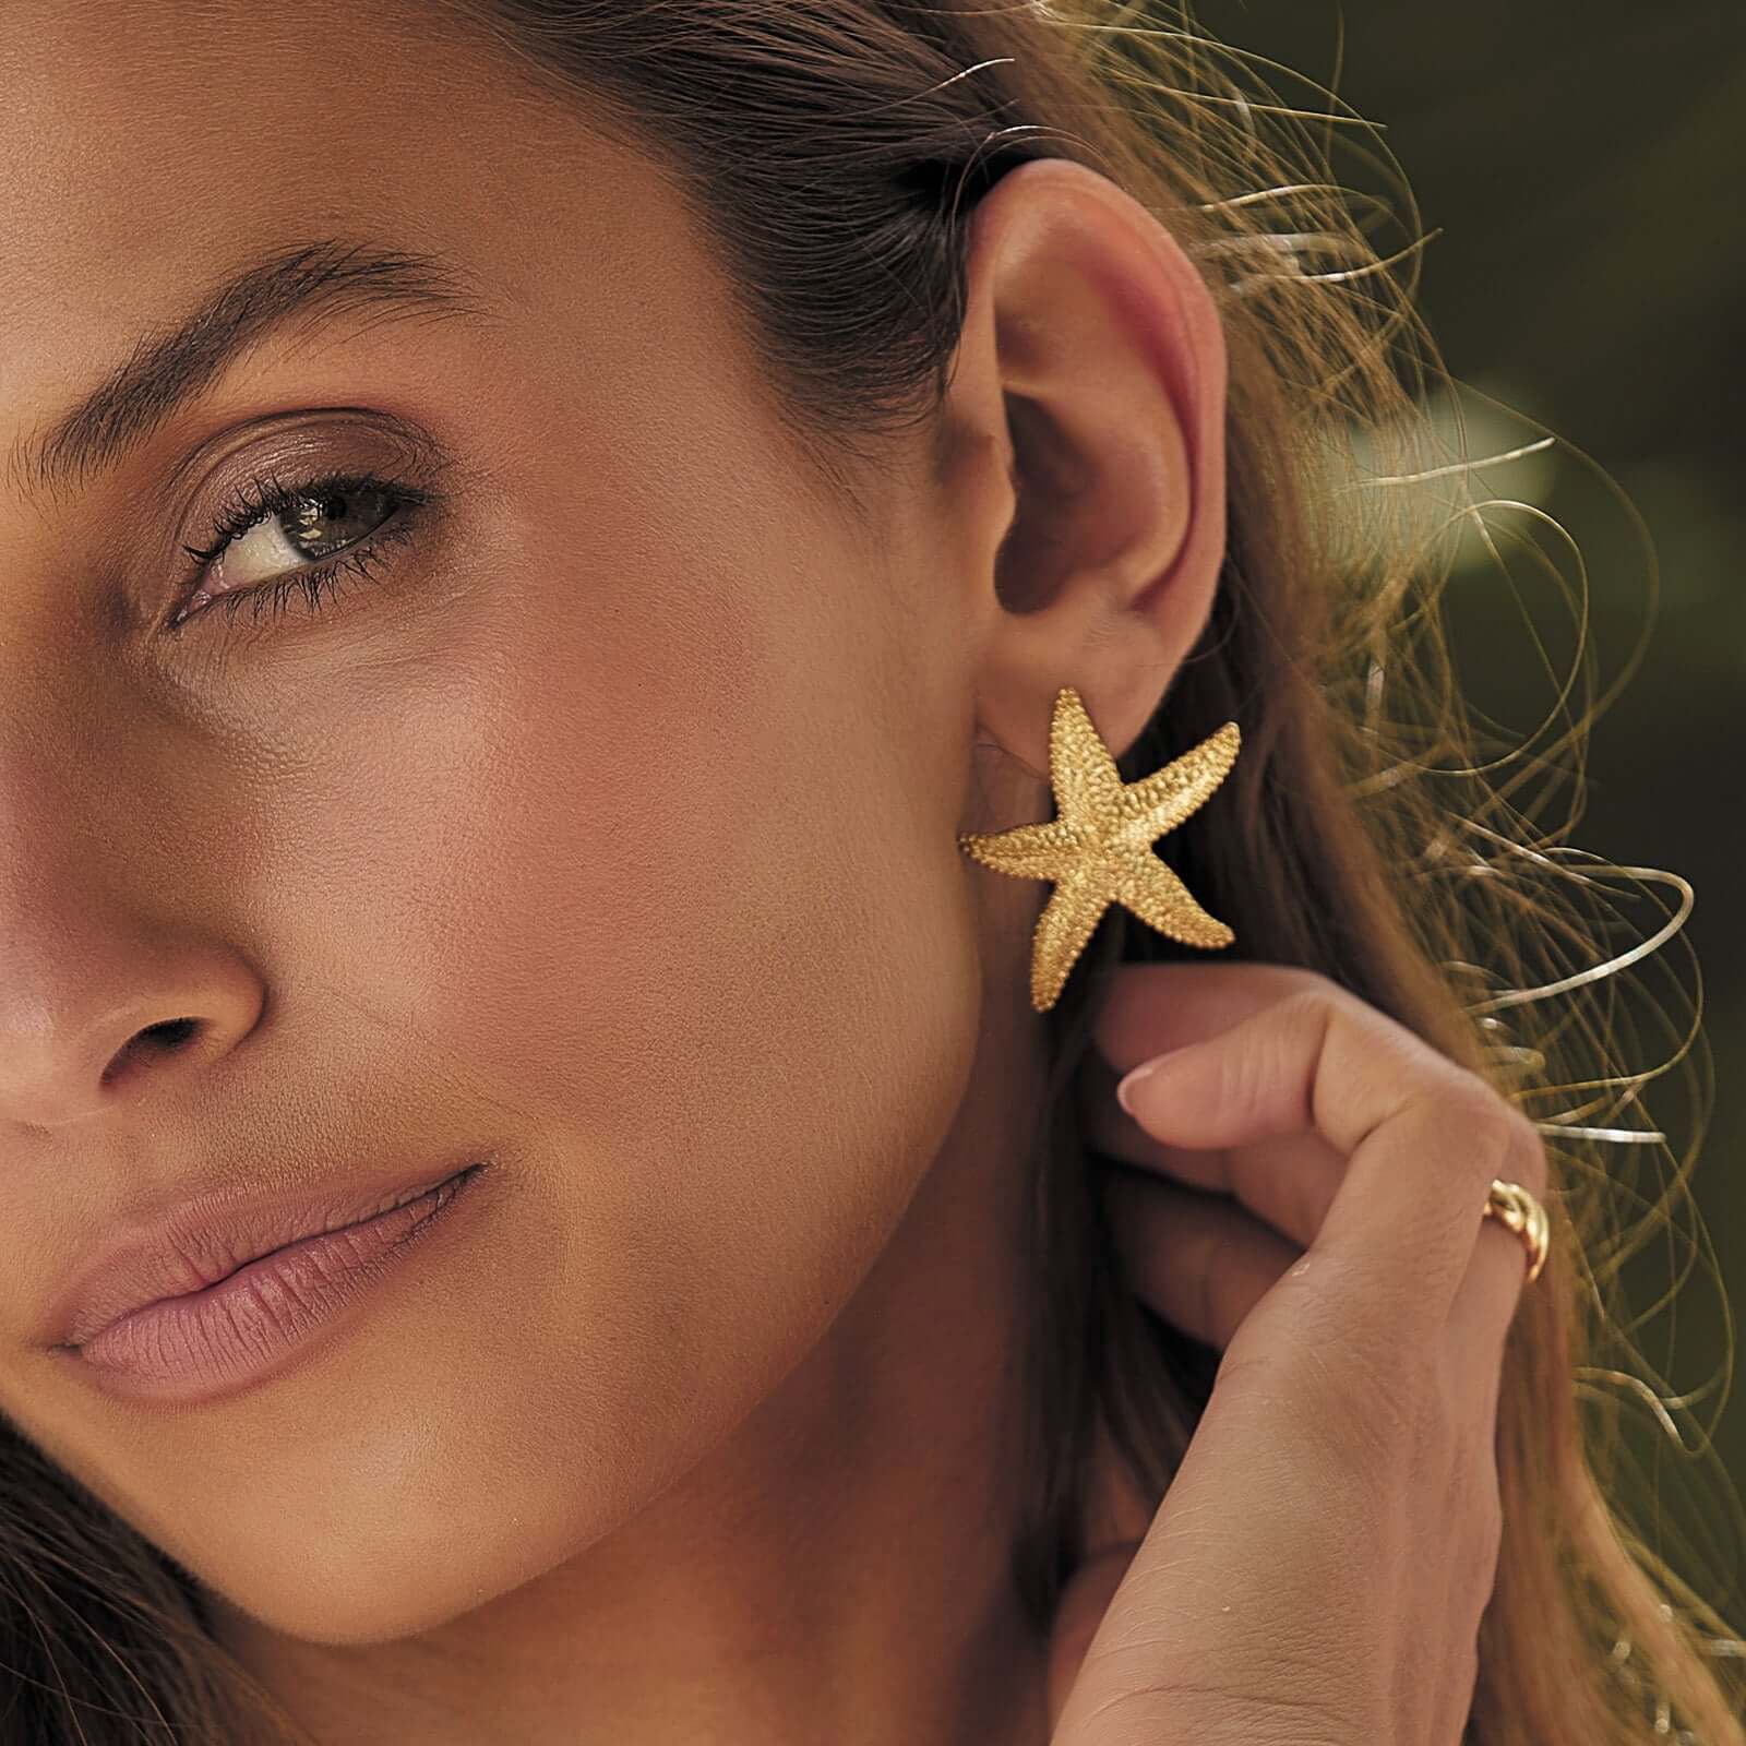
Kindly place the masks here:
[[(670, 169), (732, 269), (779, 416), (845, 501), (856, 468), (938, 407), (967, 217), (1011, 166), (1090, 164), (1205, 264), (1229, 353), (1229, 546), (1206, 636), (1123, 773), (1236, 718), (1243, 756), (1220, 805), (1172, 838), (1189, 887), (1245, 955), (1337, 980), (1543, 1112), (1549, 1135), (1554, 1250), (1507, 1351), (1505, 1535), (1465, 1737), (1624, 1746), (1653, 1725), (1746, 1746), (1746, 1687), (1732, 1683), (1746, 1662), (1720, 1659), (1722, 1619), (1608, 1498), (1599, 1426), (1580, 1411), (1617, 1318), (1601, 1259), (1620, 1245), (1605, 1133), (1575, 1126), (1561, 1093), (1585, 1088), (1584, 1119), (1631, 1076), (1596, 1077), (1584, 1055), (1605, 1063), (1613, 1042), (1605, 1009), (1582, 1006), (1594, 983), (1540, 974), (1592, 948), (1582, 873), (1549, 835), (1517, 838), (1526, 817), (1509, 798), (1584, 725), (1505, 780), (1489, 772), (1509, 760), (1474, 756), (1435, 616), (1437, 527), (1423, 494), (1383, 489), (1461, 468), (1433, 464), (1421, 388), (1440, 367), (1411, 285), (1393, 278), (1414, 250), (1379, 258), (1330, 169), (1329, 141), (1351, 117), (1280, 103), (1245, 58), (1161, 3), (442, 3), (541, 91)], [(1121, 1287), (1065, 1096), (1100, 976), (1173, 948), (1124, 920), (1093, 945), (1048, 1020), (1055, 1119), (1034, 1161), (1035, 1491), (1014, 1578), (1039, 1624), (1088, 1550), (1076, 1524), (1095, 1416), (1161, 1498), (1212, 1369)], [(1549, 988), (1556, 1016), (1536, 1000)], [(0, 1591), (7, 1739), (302, 1739), (210, 1639), (189, 1573), (10, 1433)]]

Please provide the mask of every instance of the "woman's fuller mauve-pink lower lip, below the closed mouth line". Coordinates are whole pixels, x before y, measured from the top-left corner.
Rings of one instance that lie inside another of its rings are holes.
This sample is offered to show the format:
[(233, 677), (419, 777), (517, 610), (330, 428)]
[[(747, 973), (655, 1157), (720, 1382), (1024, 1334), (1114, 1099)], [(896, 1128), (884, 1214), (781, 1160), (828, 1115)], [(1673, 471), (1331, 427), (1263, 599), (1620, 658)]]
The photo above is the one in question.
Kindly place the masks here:
[[(452, 1231), (482, 1165), (361, 1224), (306, 1236), (215, 1285), (112, 1322), (68, 1362), (100, 1388), (189, 1406), (237, 1393), (311, 1355), (374, 1285)], [(356, 1318), (349, 1318), (356, 1320)]]

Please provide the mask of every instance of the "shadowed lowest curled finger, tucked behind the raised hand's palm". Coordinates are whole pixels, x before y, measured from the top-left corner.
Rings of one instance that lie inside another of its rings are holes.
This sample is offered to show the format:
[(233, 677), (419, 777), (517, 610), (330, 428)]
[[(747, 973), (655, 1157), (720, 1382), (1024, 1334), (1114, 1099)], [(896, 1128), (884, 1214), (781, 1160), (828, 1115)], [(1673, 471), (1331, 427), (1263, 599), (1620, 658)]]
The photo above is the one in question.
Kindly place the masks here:
[(1110, 1233), (1135, 1296), (1194, 1339), (1231, 1344), (1303, 1250), (1222, 1194), (1112, 1170)]

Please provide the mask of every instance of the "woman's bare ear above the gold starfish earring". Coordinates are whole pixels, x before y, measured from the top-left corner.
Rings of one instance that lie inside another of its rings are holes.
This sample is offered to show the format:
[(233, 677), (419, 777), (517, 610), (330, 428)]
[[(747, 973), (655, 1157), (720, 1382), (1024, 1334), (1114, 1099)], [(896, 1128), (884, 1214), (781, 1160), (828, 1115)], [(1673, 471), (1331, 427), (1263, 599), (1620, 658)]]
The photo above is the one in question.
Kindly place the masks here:
[(1224, 396), (1212, 295), (1145, 206), (1069, 159), (983, 196), (943, 485), (978, 721), (1042, 780), (1063, 684), (1119, 758), (1205, 629)]

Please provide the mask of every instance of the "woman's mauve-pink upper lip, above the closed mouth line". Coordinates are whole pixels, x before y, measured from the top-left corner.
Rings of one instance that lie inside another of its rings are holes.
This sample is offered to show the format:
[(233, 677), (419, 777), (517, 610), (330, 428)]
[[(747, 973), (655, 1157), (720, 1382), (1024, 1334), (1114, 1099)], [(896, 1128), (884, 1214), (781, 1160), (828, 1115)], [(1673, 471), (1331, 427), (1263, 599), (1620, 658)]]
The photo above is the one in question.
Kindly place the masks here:
[(484, 1158), (473, 1151), (281, 1189), (243, 1182), (131, 1219), (73, 1269), (49, 1311), (47, 1344), (82, 1346), (134, 1310), (203, 1290), (306, 1236), (403, 1206)]

